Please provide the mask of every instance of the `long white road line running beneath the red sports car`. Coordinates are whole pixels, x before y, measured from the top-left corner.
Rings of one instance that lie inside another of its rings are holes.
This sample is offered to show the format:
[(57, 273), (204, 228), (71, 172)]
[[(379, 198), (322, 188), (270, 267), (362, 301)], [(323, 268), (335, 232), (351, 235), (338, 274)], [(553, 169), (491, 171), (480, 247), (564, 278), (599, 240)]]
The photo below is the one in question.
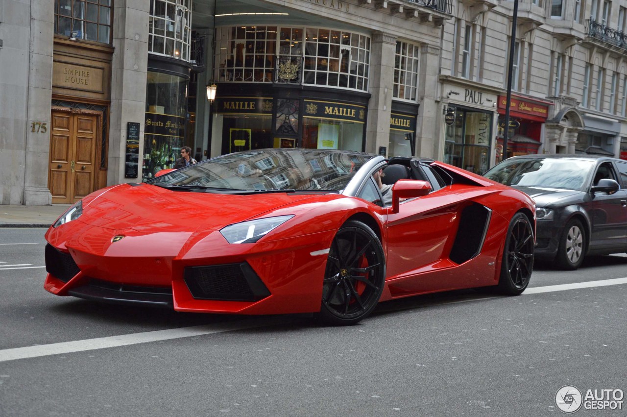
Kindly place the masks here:
[[(522, 295), (532, 295), (544, 292), (555, 292), (574, 290), (577, 288), (605, 287), (607, 285), (620, 285), (627, 283), (627, 277), (614, 278), (611, 280), (599, 280), (588, 282), (576, 282), (561, 285), (547, 285), (546, 287), (527, 288)], [(500, 298), (500, 297), (488, 297)], [(468, 302), (475, 300), (485, 300), (487, 298), (473, 298), (462, 300)], [(455, 302), (453, 302), (455, 303)], [(451, 302), (443, 304), (453, 304)], [(97, 339), (75, 340), (72, 342), (60, 342), (49, 345), (37, 345), (26, 347), (14, 347), (0, 351), (0, 362), (14, 361), (16, 359), (27, 359), (29, 357), (41, 357), (71, 352), (93, 351), (96, 349), (106, 349), (107, 347), (129, 346), (140, 343), (157, 342), (161, 340), (181, 339), (182, 337), (201, 336), (212, 333), (230, 332), (233, 330), (251, 329), (253, 327), (265, 327), (273, 324), (285, 324), (289, 322), (288, 317), (255, 317), (249, 320), (238, 320), (234, 322), (216, 323), (211, 325), (200, 325), (192, 327), (179, 327), (178, 329), (155, 330), (153, 332), (142, 332), (134, 334), (123, 334), (109, 337), (98, 337)]]

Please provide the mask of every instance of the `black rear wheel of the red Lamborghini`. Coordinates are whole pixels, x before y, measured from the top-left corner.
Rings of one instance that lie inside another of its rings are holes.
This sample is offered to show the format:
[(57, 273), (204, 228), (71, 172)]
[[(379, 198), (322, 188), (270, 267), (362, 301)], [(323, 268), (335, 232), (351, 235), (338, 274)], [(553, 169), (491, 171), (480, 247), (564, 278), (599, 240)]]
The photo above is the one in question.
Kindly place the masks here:
[(498, 292), (519, 295), (529, 285), (533, 269), (534, 229), (525, 214), (516, 213), (505, 236)]

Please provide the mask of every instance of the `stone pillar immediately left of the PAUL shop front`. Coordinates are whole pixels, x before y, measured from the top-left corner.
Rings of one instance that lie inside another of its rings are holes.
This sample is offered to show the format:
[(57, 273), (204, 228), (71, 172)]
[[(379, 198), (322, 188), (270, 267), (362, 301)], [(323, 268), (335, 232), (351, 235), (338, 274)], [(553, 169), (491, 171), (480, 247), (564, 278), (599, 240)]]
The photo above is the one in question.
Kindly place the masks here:
[(420, 109), (416, 122), (416, 153), (417, 156), (441, 159), (444, 156), (444, 127), (436, 129), (438, 111), (441, 107), (435, 102), (438, 96), (438, 74), (440, 73), (440, 48), (423, 45), (420, 50), (420, 80), (418, 81), (418, 97)]

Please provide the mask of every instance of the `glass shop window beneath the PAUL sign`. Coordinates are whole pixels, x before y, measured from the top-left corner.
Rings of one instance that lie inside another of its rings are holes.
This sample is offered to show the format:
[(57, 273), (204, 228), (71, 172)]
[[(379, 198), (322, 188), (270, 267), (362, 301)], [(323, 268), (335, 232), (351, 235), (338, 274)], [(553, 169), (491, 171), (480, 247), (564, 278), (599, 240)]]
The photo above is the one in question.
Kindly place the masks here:
[(444, 162), (475, 174), (490, 167), (492, 113), (456, 108), (455, 121), (446, 126)]

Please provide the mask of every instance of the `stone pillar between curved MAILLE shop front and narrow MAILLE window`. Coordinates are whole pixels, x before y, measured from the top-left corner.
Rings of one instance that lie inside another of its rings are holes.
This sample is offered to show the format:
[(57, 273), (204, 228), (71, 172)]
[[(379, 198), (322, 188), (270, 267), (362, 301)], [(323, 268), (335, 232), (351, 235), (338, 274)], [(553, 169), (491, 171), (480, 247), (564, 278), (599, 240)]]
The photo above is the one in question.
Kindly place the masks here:
[(371, 56), (379, 57), (379, 60), (370, 66), (372, 96), (368, 107), (366, 152), (377, 154), (379, 146), (389, 146), (396, 37), (382, 32), (374, 33), (370, 53)]

